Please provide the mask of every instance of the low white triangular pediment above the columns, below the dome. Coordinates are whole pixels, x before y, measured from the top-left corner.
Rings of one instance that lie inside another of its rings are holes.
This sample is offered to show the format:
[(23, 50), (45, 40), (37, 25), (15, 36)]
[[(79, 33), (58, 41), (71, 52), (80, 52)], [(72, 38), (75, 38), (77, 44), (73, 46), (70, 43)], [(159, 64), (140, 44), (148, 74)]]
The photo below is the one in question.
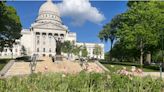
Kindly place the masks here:
[(55, 23), (36, 23), (33, 27), (41, 28), (41, 29), (66, 30), (62, 25), (55, 24)]

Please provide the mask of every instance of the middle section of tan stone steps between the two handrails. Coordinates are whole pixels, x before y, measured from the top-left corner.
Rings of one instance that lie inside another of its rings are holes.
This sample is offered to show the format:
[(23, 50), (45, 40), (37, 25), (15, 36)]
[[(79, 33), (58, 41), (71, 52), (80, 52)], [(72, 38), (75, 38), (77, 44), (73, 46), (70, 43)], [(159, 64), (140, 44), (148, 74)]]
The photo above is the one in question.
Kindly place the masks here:
[(44, 61), (37, 63), (36, 72), (64, 72), (77, 73), (82, 67), (77, 62), (63, 61), (52, 62), (51, 58), (44, 58)]

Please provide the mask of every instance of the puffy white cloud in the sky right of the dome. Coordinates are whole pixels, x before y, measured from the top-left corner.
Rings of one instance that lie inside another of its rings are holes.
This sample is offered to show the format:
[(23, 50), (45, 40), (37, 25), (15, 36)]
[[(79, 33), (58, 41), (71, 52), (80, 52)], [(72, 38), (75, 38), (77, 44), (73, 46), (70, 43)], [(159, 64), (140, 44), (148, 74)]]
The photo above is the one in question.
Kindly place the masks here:
[(82, 25), (86, 21), (100, 24), (104, 15), (96, 7), (92, 7), (89, 0), (63, 0), (58, 4), (61, 16), (69, 16), (73, 24)]

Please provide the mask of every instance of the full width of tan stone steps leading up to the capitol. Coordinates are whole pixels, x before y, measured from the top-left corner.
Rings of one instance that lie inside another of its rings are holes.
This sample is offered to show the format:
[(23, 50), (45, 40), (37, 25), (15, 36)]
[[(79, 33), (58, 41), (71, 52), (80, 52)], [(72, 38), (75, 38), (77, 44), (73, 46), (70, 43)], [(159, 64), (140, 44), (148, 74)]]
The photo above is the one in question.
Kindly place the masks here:
[[(88, 63), (88, 65), (80, 66), (78, 62), (72, 62), (64, 59), (63, 61), (52, 62), (49, 57), (40, 58), (37, 62), (35, 72), (58, 72), (75, 74), (85, 69), (87, 72), (103, 72), (103, 69), (96, 63)], [(5, 76), (30, 74), (30, 62), (14, 62), (13, 66), (8, 70)]]

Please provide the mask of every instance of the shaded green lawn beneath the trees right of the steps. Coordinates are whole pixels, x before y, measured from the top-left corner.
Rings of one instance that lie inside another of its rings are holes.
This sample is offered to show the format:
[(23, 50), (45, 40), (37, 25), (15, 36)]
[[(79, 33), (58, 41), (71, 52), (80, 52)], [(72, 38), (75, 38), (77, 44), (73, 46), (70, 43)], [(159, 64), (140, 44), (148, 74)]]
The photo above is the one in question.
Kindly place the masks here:
[[(135, 63), (129, 63), (129, 62), (115, 62), (115, 63), (105, 63), (101, 62), (106, 68), (108, 68), (111, 71), (116, 72), (117, 70), (122, 69), (123, 67), (126, 67), (127, 70), (131, 70), (132, 66), (135, 66), (137, 68), (140, 68), (139, 64)], [(155, 65), (151, 66), (143, 66), (144, 72), (158, 72), (159, 67)]]

